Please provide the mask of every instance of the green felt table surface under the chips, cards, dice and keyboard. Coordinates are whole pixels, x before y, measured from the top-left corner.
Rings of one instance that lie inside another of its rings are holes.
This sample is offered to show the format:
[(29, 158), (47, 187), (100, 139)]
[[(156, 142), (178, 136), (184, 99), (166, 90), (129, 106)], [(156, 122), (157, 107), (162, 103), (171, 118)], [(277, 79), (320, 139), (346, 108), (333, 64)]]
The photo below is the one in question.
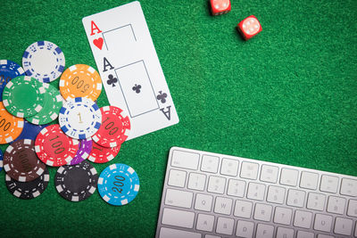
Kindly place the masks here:
[[(137, 198), (123, 207), (99, 193), (66, 201), (50, 168), (46, 192), (31, 201), (0, 183), (1, 236), (154, 236), (174, 145), (357, 176), (355, 0), (233, 0), (231, 12), (215, 17), (206, 0), (140, 2), (180, 122), (95, 164), (99, 173), (113, 162), (135, 168)], [(81, 20), (126, 3), (3, 0), (0, 58), (21, 63), (30, 44), (48, 40), (62, 48), (66, 68), (96, 69)], [(245, 42), (236, 26), (251, 14), (262, 32)], [(107, 104), (102, 92), (98, 105)]]

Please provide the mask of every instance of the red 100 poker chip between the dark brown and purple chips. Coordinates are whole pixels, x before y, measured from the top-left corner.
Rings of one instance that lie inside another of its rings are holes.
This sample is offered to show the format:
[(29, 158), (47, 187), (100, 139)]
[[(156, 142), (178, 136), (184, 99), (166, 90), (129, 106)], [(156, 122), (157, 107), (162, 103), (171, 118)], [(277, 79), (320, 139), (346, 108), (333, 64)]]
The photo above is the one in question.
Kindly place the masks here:
[(53, 167), (71, 162), (78, 149), (79, 141), (65, 135), (58, 124), (43, 128), (35, 141), (35, 151), (39, 160)]

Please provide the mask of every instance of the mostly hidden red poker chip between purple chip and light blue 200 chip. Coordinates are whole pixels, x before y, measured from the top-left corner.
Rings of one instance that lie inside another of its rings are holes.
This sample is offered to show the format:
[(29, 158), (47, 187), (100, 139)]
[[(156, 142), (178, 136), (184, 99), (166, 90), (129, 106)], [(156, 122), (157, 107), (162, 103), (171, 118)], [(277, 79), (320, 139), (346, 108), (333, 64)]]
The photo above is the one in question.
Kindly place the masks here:
[(88, 159), (94, 163), (103, 164), (114, 159), (120, 151), (120, 144), (116, 147), (104, 147), (100, 144), (93, 142), (92, 151)]

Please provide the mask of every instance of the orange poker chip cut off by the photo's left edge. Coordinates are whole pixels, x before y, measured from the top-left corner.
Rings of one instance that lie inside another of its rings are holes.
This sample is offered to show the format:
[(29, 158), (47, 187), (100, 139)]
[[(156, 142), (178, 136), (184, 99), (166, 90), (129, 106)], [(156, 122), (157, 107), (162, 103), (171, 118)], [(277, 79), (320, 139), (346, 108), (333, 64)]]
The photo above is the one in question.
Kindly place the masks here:
[(0, 144), (8, 144), (22, 132), (23, 119), (12, 116), (0, 102)]

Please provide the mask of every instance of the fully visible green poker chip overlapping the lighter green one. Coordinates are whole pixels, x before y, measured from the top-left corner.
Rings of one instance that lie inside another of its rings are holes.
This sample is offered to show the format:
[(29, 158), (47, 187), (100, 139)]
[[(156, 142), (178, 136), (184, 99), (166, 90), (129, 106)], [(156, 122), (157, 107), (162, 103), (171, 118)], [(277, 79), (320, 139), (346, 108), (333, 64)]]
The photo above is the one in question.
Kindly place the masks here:
[(36, 78), (29, 76), (12, 78), (4, 88), (4, 107), (18, 118), (33, 116), (42, 110), (45, 92), (44, 84)]

